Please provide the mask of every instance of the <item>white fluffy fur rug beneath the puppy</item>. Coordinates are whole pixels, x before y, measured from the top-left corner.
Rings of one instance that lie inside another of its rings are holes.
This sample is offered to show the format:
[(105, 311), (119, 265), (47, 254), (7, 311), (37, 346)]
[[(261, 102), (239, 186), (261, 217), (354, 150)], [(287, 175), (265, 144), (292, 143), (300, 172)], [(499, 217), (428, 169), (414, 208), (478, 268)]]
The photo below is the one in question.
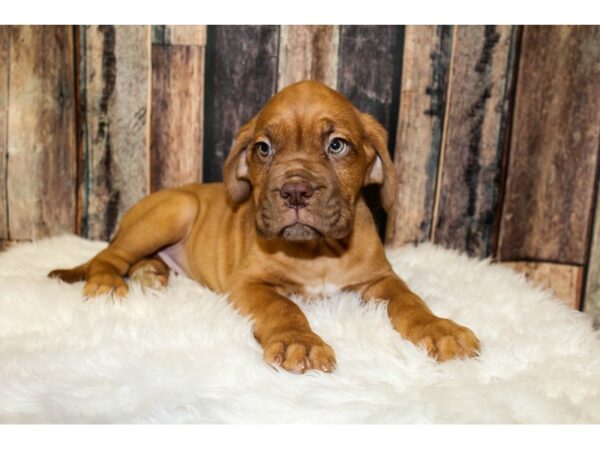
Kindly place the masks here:
[(45, 277), (105, 245), (63, 236), (0, 253), (0, 422), (600, 422), (591, 321), (487, 261), (430, 244), (389, 252), (434, 312), (480, 337), (478, 359), (438, 364), (383, 304), (339, 294), (299, 301), (337, 371), (293, 375), (185, 277), (122, 303)]

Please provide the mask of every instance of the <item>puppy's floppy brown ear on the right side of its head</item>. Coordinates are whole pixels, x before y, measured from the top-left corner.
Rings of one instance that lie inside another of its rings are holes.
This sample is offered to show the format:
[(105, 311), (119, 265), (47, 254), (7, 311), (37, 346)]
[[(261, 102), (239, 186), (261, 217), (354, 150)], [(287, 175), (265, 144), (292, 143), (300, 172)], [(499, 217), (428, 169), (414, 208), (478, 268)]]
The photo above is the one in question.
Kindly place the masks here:
[(360, 117), (365, 130), (366, 145), (375, 151), (375, 158), (367, 169), (364, 184), (381, 185), (381, 204), (389, 212), (396, 201), (398, 177), (387, 148), (387, 132), (372, 115), (361, 113)]

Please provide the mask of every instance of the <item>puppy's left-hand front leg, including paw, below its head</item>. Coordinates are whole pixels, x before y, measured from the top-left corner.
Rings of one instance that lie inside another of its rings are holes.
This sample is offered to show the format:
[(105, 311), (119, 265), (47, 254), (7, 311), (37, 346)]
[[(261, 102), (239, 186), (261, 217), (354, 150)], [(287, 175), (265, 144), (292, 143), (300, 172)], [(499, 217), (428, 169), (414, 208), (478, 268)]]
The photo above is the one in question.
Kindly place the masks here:
[(254, 320), (254, 337), (264, 349), (264, 360), (295, 373), (335, 369), (333, 349), (313, 333), (294, 302), (260, 282), (235, 286), (229, 295), (238, 310)]

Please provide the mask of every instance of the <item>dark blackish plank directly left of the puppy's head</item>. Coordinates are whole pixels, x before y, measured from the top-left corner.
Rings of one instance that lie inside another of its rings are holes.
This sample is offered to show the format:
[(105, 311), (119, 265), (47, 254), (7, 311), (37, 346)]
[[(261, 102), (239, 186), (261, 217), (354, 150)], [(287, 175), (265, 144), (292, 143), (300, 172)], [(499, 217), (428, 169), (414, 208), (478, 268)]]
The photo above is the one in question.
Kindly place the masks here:
[(276, 26), (209, 26), (206, 47), (205, 182), (221, 181), (238, 129), (277, 86)]

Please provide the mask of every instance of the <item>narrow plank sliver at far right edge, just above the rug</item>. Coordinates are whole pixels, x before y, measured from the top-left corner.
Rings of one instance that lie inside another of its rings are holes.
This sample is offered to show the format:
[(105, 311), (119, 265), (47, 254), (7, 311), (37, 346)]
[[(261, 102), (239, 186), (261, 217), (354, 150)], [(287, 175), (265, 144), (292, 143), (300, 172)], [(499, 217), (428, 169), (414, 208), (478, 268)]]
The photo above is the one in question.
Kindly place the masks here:
[(600, 195), (599, 177), (596, 173), (596, 198), (595, 217), (592, 237), (588, 254), (588, 265), (586, 268), (585, 297), (583, 299), (583, 310), (594, 318), (594, 322), (600, 325)]

